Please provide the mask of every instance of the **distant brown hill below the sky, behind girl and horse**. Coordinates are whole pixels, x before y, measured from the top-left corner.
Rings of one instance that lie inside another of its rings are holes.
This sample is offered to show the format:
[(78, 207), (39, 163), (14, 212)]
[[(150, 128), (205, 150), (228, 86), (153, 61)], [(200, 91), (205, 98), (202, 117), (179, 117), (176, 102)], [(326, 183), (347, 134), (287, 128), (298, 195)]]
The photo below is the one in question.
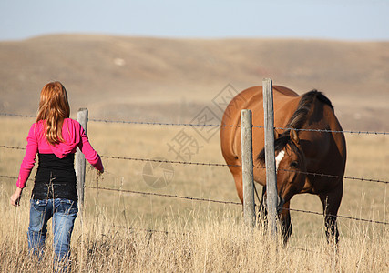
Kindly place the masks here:
[[(333, 101), (344, 129), (389, 131), (389, 43), (46, 35), (0, 42), (0, 112), (35, 114), (50, 80), (73, 115), (189, 122), (228, 84), (274, 85)], [(221, 113), (218, 113), (221, 115)]]

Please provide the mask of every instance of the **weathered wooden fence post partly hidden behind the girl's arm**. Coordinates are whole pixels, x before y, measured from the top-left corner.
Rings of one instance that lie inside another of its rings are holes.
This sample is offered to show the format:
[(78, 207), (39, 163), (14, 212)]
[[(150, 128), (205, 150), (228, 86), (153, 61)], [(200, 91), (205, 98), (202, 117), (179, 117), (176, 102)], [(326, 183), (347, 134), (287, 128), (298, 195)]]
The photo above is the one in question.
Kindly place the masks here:
[[(83, 126), (85, 133), (87, 134), (87, 108), (81, 108), (77, 113), (77, 121)], [(78, 195), (78, 206), (80, 215), (84, 209), (84, 186), (85, 186), (85, 169), (86, 162), (85, 157), (77, 147), (76, 152), (76, 177), (77, 177), (77, 195)]]

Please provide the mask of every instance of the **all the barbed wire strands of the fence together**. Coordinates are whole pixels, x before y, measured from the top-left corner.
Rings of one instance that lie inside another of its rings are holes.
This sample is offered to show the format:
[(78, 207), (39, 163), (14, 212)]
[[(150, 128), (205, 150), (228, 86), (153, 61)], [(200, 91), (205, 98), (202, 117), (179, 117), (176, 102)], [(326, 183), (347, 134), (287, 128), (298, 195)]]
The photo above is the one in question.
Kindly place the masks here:
[[(7, 113), (0, 113), (0, 116), (12, 116), (12, 117), (22, 117), (22, 118), (36, 118), (36, 116), (32, 116), (32, 115), (17, 115), (17, 114), (7, 114)], [(220, 129), (226, 128), (226, 127), (240, 127), (240, 126), (215, 125), (215, 124), (163, 123), (163, 122), (106, 120), (106, 119), (94, 119), (94, 118), (89, 118), (88, 121), (97, 122), (97, 123), (106, 123), (106, 124), (127, 124), (127, 125), (147, 125), (147, 126), (219, 127)], [(263, 126), (252, 126), (252, 127), (253, 128), (263, 128)], [(285, 129), (291, 129), (291, 128), (275, 127), (275, 129), (285, 130)], [(331, 131), (331, 130), (295, 129), (295, 128), (292, 128), (292, 130), (312, 131), (312, 132), (321, 132), (321, 133), (343, 133), (343, 134), (355, 134), (355, 135), (367, 135), (367, 136), (388, 136), (389, 135), (389, 132), (375, 132), (375, 131), (352, 131), (352, 130)], [(15, 146), (9, 146), (9, 145), (0, 145), (0, 148), (14, 149), (14, 150), (26, 150), (26, 147), (15, 147)], [(204, 167), (229, 167), (230, 166), (230, 167), (241, 167), (241, 165), (228, 165), (228, 164), (223, 164), (223, 163), (189, 162), (189, 161), (180, 161), (180, 160), (162, 160), (162, 159), (155, 159), (155, 158), (118, 157), (118, 156), (109, 156), (109, 155), (101, 155), (101, 157), (102, 158), (108, 158), (108, 159), (141, 161), (141, 162), (159, 162), (159, 163), (186, 165), (186, 166), (204, 166)], [(254, 166), (254, 167), (265, 168), (265, 167), (261, 167), (261, 166)], [(299, 172), (299, 171), (287, 170), (287, 169), (279, 169), (279, 171)], [(305, 175), (315, 176), (315, 177), (343, 178), (343, 179), (349, 179), (349, 180), (359, 180), (359, 181), (363, 181), (363, 182), (381, 183), (381, 184), (384, 184), (384, 185), (389, 184), (389, 181), (383, 180), (383, 179), (374, 179), (374, 178), (365, 178), (365, 177), (348, 177), (348, 176), (340, 177), (340, 176), (333, 176), (333, 175), (321, 174), (321, 173), (310, 173), (310, 172), (300, 172), (300, 173), (303, 173)], [(0, 177), (2, 177), (2, 178), (9, 178), (9, 179), (17, 179), (17, 177), (8, 176), (8, 175), (0, 175)], [(32, 179), (29, 179), (29, 180), (32, 180)], [(124, 193), (135, 194), (135, 195), (143, 195), (143, 196), (178, 198), (178, 199), (191, 200), (191, 201), (200, 201), (200, 202), (210, 202), (210, 203), (217, 203), (217, 204), (223, 204), (223, 205), (241, 206), (240, 202), (215, 200), (215, 199), (210, 199), (210, 198), (185, 197), (185, 196), (167, 195), (167, 194), (135, 191), (135, 190), (128, 190), (128, 189), (109, 188), (109, 187), (85, 186), (85, 188), (95, 189), (95, 190), (111, 191), (111, 192), (124, 192)], [(315, 211), (310, 211), (310, 210), (294, 209), (294, 208), (283, 208), (283, 209), (287, 209), (289, 211), (294, 211), (294, 212), (298, 212), (298, 213), (312, 214), (312, 215), (318, 215), (318, 216), (322, 216), (323, 215), (323, 213), (315, 212)], [(329, 215), (329, 216), (331, 216), (331, 215)], [(342, 216), (342, 215), (337, 215), (336, 217), (343, 218), (343, 219), (354, 220), (354, 221), (361, 221), (361, 222), (366, 222), (366, 223), (372, 223), (372, 224), (380, 224), (380, 225), (384, 225), (384, 226), (389, 225), (389, 222), (377, 221), (377, 220), (373, 220), (373, 219), (365, 219), (365, 218), (360, 218), (360, 217), (349, 217), (349, 216)], [(129, 229), (134, 229), (134, 230), (139, 229), (139, 228), (135, 228), (135, 227), (134, 228), (133, 227), (123, 227), (123, 228), (129, 228)], [(152, 230), (152, 229), (142, 229), (142, 230), (143, 231), (150, 231), (150, 232), (165, 232), (166, 233), (166, 231), (160, 231), (160, 230)]]

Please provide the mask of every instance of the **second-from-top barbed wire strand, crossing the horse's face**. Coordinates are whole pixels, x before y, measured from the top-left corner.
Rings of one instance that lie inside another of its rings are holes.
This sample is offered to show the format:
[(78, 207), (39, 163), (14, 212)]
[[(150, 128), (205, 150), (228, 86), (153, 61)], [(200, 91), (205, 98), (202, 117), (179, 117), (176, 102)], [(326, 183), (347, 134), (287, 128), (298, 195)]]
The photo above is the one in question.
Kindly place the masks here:
[[(5, 146), (5, 145), (0, 145), (0, 148), (26, 150), (25, 147), (12, 147), (12, 146)], [(101, 155), (100, 157), (107, 158), (107, 159), (131, 160), (131, 161), (140, 161), (140, 162), (158, 162), (158, 163), (170, 163), (170, 164), (179, 164), (179, 165), (194, 165), (194, 166), (208, 166), (208, 167), (241, 167), (241, 165), (231, 165), (231, 164), (223, 164), (223, 163), (190, 162), (190, 161), (164, 160), (164, 159), (156, 159), (156, 158), (151, 159), (151, 158), (137, 158), (137, 157), (115, 157), (115, 156), (104, 156), (104, 155)], [(253, 167), (263, 168), (263, 169), (266, 168), (263, 166), (253, 166)], [(327, 175), (321, 173), (304, 172), (304, 171), (282, 169), (282, 168), (278, 170), (285, 171), (285, 172), (301, 173), (303, 175), (314, 176), (314, 177), (328, 177), (328, 178), (338, 178), (338, 179), (358, 180), (363, 182), (389, 184), (389, 181), (385, 181), (381, 179), (347, 177), (347, 176), (342, 177), (342, 176), (333, 176), (333, 175)]]

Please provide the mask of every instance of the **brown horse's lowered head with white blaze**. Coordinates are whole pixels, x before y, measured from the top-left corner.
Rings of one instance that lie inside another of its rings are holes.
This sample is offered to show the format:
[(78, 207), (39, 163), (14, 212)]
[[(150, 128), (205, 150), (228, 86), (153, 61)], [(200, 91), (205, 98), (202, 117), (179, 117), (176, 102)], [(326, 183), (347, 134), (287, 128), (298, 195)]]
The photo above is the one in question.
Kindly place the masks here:
[[(279, 211), (291, 198), (302, 191), (305, 183), (306, 164), (296, 130), (288, 129), (274, 141)], [(265, 161), (264, 149), (259, 155)]]

